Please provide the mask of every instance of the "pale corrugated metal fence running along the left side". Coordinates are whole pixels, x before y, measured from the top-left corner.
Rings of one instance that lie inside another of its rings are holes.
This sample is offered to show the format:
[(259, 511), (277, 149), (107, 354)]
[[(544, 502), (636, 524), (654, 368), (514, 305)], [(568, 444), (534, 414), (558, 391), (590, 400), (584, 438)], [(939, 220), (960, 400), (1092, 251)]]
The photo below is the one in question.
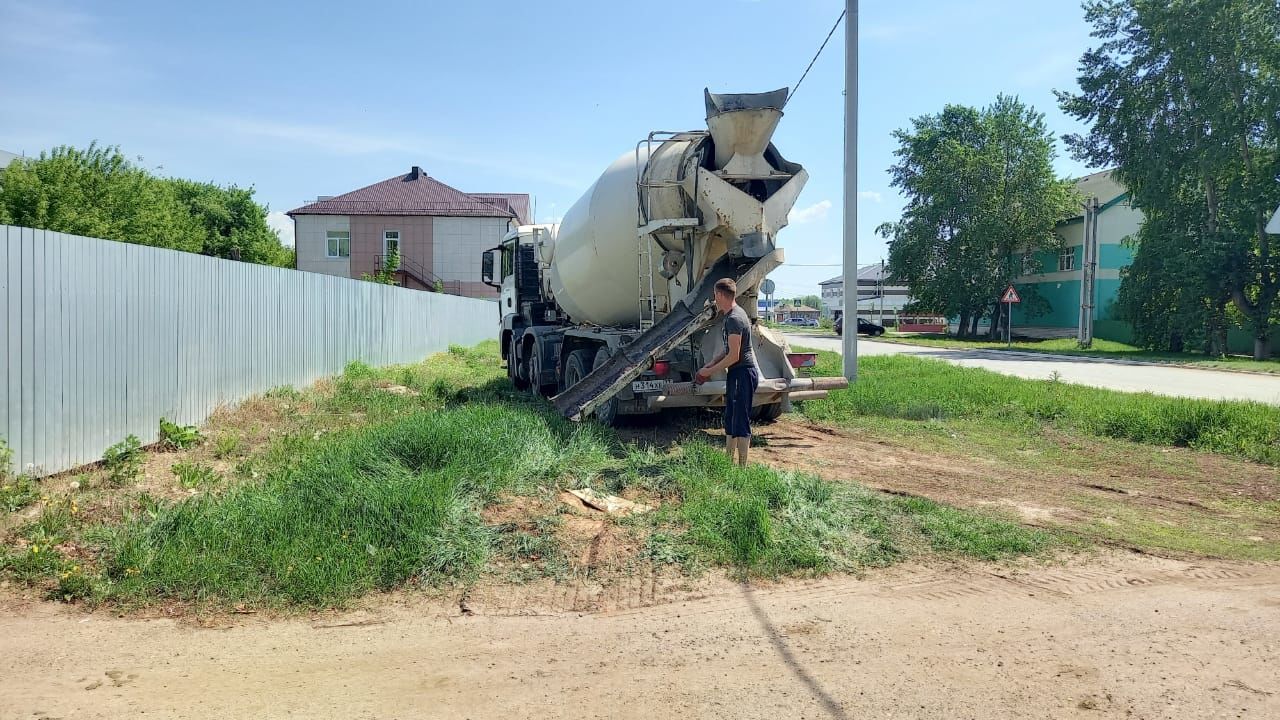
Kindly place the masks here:
[(0, 439), (17, 470), (101, 459), (160, 418), (495, 336), (494, 302), (0, 225)]

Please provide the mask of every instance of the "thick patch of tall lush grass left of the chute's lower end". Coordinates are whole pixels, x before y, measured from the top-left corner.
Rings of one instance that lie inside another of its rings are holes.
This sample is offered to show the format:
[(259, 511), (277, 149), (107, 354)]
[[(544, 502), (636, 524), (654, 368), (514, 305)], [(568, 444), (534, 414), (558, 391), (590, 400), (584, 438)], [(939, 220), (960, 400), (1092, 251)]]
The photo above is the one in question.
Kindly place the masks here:
[(417, 579), (475, 574), (479, 510), (609, 460), (591, 425), (476, 404), (360, 429), (223, 496), (122, 529), (110, 594), (325, 606)]

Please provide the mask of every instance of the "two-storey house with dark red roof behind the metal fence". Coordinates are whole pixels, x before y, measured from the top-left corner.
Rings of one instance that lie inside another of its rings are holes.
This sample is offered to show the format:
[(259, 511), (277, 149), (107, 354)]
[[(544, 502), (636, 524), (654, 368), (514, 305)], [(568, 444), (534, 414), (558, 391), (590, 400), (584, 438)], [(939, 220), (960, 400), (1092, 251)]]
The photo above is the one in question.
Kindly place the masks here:
[(530, 224), (529, 195), (462, 192), (413, 165), (346, 195), (289, 210), (297, 269), (343, 278), (374, 273), (399, 255), (404, 287), (497, 297), (480, 282), (480, 254), (512, 225)]

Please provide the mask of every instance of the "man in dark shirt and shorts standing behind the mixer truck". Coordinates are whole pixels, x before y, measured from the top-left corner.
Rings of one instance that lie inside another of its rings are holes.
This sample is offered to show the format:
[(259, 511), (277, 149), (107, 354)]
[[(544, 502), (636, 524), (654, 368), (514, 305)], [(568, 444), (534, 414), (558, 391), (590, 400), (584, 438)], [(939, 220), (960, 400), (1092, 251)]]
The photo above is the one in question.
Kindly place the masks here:
[(751, 351), (751, 319), (737, 304), (737, 283), (724, 278), (716, 283), (716, 309), (724, 318), (724, 354), (704, 365), (694, 378), (705, 383), (716, 373), (728, 369), (724, 388), (724, 450), (730, 460), (746, 465), (746, 448), (751, 445), (751, 401), (760, 375), (755, 372)]

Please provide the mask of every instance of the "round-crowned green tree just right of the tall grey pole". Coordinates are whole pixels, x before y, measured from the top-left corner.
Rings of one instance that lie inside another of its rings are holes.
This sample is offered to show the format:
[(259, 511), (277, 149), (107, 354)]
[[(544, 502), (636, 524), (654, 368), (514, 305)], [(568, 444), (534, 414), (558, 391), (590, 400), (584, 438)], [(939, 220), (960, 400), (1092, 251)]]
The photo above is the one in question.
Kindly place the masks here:
[[(960, 319), (960, 334), (998, 318), (1001, 291), (1034, 250), (1057, 247), (1073, 214), (1071, 183), (1053, 176), (1044, 117), (1001, 95), (986, 109), (947, 105), (893, 133), (891, 183), (908, 197), (890, 240), (888, 274), (908, 284), (913, 310)], [(998, 332), (992, 323), (991, 332)]]

